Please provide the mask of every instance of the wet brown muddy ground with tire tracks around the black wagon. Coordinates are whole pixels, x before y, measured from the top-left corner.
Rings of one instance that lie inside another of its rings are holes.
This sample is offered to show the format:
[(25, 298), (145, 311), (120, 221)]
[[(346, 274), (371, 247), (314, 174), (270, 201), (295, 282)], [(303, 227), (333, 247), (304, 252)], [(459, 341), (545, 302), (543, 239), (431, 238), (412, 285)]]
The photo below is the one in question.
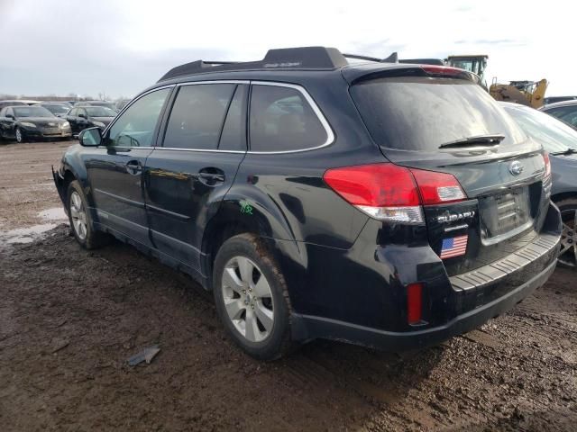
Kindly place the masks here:
[(262, 364), (187, 276), (119, 243), (82, 250), (42, 213), (68, 145), (0, 146), (0, 430), (577, 430), (573, 272), (440, 347), (316, 341)]

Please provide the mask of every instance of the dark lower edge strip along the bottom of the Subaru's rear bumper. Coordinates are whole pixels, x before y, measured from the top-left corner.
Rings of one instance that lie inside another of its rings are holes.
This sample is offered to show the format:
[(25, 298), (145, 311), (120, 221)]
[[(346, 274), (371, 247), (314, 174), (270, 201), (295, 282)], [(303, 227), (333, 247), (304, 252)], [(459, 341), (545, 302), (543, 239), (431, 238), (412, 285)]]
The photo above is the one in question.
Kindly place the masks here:
[(491, 318), (495, 318), (510, 310), (518, 302), (533, 293), (536, 288), (545, 284), (549, 276), (554, 272), (555, 265), (556, 261), (554, 260), (545, 267), (545, 270), (529, 279), (525, 284), (518, 286), (493, 302), (489, 302), (473, 311), (463, 313), (443, 326), (432, 329), (392, 332), (307, 315), (296, 315), (294, 317), (294, 325), (297, 327), (297, 331), (304, 331), (309, 337), (340, 340), (386, 351), (400, 352), (431, 347), (446, 339), (453, 338), (453, 336), (477, 329)]

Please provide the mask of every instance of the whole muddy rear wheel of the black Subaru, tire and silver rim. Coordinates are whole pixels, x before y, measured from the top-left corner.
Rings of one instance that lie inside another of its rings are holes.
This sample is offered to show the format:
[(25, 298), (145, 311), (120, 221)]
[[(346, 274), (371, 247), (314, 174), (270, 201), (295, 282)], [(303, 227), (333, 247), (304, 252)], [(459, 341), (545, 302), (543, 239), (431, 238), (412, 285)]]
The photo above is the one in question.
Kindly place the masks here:
[(289, 352), (289, 293), (279, 266), (256, 236), (245, 233), (224, 242), (213, 282), (216, 311), (245, 353), (269, 361)]

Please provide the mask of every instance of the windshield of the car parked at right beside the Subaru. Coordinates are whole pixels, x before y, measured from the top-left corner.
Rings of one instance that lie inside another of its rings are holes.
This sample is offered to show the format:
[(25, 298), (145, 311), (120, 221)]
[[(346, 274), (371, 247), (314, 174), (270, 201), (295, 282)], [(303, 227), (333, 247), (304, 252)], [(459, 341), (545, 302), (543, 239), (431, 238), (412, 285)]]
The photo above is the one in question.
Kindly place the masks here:
[(550, 153), (563, 152), (568, 148), (577, 149), (577, 130), (563, 121), (533, 108), (504, 105), (507, 111), (527, 135), (539, 142)]

